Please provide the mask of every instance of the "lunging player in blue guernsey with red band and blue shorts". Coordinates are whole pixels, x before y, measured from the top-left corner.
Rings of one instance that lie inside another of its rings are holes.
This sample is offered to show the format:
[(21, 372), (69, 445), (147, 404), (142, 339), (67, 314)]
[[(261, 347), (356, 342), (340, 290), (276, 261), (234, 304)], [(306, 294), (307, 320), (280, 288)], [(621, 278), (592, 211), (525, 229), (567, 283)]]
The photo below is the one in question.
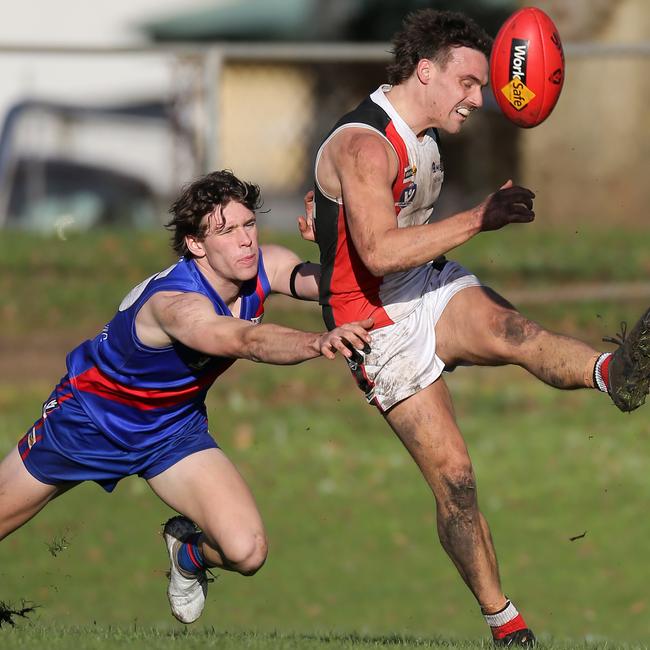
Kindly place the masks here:
[(295, 364), (370, 342), (371, 319), (318, 334), (260, 324), (271, 292), (315, 300), (319, 267), (258, 246), (259, 205), (259, 188), (229, 171), (187, 187), (168, 224), (179, 261), (68, 354), (41, 418), (0, 463), (0, 539), (82, 481), (110, 492), (144, 478), (181, 513), (163, 535), (168, 597), (184, 623), (203, 610), (207, 568), (251, 575), (267, 552), (253, 496), (208, 431), (208, 389), (236, 359)]

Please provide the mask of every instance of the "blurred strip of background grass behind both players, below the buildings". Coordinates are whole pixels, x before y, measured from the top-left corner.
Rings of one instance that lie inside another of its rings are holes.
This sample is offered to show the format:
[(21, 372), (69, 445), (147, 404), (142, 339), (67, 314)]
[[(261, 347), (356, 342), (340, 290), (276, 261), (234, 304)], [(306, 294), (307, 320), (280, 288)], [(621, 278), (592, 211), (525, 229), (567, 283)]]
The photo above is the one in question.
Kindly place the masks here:
[[(262, 233), (317, 260), (295, 235)], [(0, 317), (6, 336), (28, 330), (88, 331), (124, 294), (174, 261), (160, 232), (71, 233), (66, 240), (11, 232), (0, 238)], [(650, 274), (650, 230), (511, 227), (483, 233), (452, 254), (485, 282), (509, 288), (641, 281)], [(595, 253), (596, 252), (596, 253)]]

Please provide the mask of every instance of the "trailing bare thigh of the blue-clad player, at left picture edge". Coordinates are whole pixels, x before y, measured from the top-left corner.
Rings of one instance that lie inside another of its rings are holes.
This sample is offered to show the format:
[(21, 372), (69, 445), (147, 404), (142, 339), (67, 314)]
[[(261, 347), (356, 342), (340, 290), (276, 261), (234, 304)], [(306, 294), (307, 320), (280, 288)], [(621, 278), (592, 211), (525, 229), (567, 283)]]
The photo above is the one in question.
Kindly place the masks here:
[(0, 463), (0, 539), (29, 521), (48, 501), (73, 487), (48, 485), (25, 468), (14, 447)]

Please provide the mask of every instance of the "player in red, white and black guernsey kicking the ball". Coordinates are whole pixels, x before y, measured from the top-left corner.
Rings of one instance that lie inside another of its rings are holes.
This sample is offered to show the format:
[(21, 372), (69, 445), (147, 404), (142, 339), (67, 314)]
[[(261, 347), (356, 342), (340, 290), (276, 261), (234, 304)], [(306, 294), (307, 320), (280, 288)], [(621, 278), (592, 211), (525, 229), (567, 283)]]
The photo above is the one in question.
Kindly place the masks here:
[[(389, 84), (343, 116), (320, 147), (313, 226), (328, 327), (372, 318), (369, 353), (348, 360), (422, 471), (440, 541), (498, 644), (535, 638), (503, 593), (476, 479), (442, 372), (516, 364), (561, 389), (598, 388), (623, 411), (650, 384), (650, 310), (612, 355), (554, 334), (445, 255), (472, 237), (534, 219), (534, 194), (507, 181), (479, 205), (434, 212), (443, 180), (439, 132), (481, 108), (491, 40), (462, 14), (424, 9), (394, 39)], [(302, 220), (303, 236), (312, 224)]]

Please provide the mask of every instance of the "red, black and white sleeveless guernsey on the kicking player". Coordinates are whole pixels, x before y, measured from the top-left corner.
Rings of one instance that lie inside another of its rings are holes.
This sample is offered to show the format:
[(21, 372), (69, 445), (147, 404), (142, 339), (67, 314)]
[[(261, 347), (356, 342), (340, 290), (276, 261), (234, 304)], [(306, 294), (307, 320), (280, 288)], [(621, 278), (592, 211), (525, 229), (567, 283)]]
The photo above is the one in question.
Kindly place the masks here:
[(374, 319), (375, 328), (405, 318), (415, 309), (433, 269), (432, 264), (425, 264), (383, 277), (373, 276), (350, 238), (343, 199), (326, 194), (318, 182), (318, 164), (328, 142), (343, 129), (370, 129), (389, 142), (399, 161), (392, 186), (398, 227), (439, 218), (433, 214), (444, 176), (438, 133), (428, 129), (418, 138), (386, 96), (390, 88), (380, 86), (344, 115), (316, 156), (314, 216), (322, 267), (320, 304), (329, 329), (369, 317)]

